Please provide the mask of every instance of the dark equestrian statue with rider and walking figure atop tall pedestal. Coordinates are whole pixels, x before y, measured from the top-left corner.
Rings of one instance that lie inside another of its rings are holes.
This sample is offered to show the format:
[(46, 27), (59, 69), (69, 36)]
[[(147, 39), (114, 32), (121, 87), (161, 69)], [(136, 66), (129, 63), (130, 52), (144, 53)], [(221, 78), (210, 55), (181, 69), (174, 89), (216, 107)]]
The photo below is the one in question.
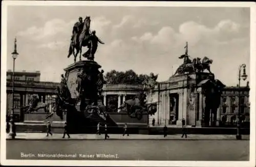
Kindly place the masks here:
[[(80, 54), (79, 61), (81, 61), (81, 55), (88, 60), (94, 61), (94, 54), (97, 51), (98, 43), (104, 44), (104, 42), (96, 36), (95, 30), (90, 31), (90, 24), (90, 16), (86, 16), (84, 21), (82, 21), (82, 17), (79, 17), (79, 21), (73, 26), (68, 58), (73, 54), (74, 62), (76, 62), (78, 53)], [(88, 50), (82, 54), (82, 47), (85, 46), (88, 47)]]

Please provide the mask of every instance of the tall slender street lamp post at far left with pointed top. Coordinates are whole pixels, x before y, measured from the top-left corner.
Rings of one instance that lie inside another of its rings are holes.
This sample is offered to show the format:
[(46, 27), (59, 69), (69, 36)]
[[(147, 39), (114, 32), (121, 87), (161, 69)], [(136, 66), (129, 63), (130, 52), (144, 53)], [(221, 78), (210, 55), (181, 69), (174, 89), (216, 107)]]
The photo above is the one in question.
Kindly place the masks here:
[(14, 67), (15, 67), (15, 60), (18, 57), (17, 52), (17, 45), (16, 45), (16, 38), (14, 40), (14, 50), (12, 52), (12, 58), (13, 58), (13, 70), (12, 70), (12, 110), (11, 110), (11, 119), (10, 119), (10, 131), (9, 131), (9, 137), (15, 138), (16, 135), (16, 128), (15, 128), (15, 120), (14, 120)]

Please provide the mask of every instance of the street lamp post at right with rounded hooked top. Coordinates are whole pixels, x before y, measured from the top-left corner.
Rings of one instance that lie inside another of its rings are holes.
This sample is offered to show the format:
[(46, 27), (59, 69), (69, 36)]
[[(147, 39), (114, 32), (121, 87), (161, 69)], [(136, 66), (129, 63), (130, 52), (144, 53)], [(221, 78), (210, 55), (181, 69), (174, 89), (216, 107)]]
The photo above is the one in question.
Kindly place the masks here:
[[(242, 136), (241, 136), (241, 130), (240, 130), (240, 126), (241, 126), (241, 120), (240, 120), (240, 81), (241, 81), (241, 77), (243, 80), (246, 80), (247, 75), (245, 72), (245, 64), (242, 64), (239, 66), (239, 76), (238, 76), (238, 122), (237, 122), (237, 140), (242, 140)], [(243, 68), (243, 74), (241, 75), (241, 69)]]

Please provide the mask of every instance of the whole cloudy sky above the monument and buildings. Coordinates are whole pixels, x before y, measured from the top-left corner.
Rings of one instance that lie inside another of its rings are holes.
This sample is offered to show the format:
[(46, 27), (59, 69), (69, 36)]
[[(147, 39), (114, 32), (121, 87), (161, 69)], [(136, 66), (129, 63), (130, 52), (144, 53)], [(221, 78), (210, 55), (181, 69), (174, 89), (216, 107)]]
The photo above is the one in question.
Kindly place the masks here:
[(59, 82), (63, 68), (73, 63), (67, 54), (79, 16), (91, 16), (91, 29), (105, 42), (95, 54), (105, 71), (154, 72), (167, 80), (182, 64), (178, 57), (188, 41), (188, 54), (212, 59), (211, 71), (225, 85), (238, 84), (242, 63), (249, 74), (249, 8), (9, 6), (7, 13), (8, 53), (17, 37), (15, 70), (39, 70), (42, 81)]

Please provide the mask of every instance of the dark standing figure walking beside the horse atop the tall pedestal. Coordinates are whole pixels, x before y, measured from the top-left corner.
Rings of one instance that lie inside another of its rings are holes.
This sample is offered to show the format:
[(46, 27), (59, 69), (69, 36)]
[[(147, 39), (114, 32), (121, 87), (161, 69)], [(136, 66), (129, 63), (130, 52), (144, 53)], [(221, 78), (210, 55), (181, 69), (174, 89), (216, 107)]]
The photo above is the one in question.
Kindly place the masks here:
[[(90, 41), (88, 44), (88, 50), (83, 54), (83, 57), (88, 58), (88, 60), (94, 60), (94, 54), (98, 48), (98, 43), (100, 44), (105, 44), (102, 42), (97, 36), (96, 36), (96, 31), (93, 30), (92, 34), (90, 35)], [(90, 43), (92, 42), (92, 43)]]

